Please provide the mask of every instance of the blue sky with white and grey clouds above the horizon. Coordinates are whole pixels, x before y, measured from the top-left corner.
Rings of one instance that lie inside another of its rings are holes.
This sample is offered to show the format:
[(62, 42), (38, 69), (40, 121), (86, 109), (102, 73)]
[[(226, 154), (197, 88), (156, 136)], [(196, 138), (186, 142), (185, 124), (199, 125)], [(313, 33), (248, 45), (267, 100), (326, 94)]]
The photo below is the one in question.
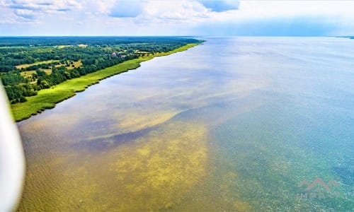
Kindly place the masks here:
[(354, 35), (354, 1), (0, 0), (0, 36)]

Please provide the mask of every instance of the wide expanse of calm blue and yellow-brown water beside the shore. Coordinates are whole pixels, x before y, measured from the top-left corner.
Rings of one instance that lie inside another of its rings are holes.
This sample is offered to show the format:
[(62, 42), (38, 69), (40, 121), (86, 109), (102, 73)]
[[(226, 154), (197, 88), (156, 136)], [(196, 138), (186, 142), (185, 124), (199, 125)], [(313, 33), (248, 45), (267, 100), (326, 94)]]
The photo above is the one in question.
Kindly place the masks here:
[(353, 210), (354, 40), (203, 39), (20, 122), (19, 211)]

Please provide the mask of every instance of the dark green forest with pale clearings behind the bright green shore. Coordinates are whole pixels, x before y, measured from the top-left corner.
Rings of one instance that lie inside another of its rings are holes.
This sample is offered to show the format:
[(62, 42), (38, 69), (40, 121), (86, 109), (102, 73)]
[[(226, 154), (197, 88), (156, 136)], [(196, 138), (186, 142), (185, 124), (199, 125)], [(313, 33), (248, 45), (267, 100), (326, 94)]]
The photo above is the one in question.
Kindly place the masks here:
[(0, 37), (0, 78), (15, 104), (71, 78), (198, 42), (191, 37)]

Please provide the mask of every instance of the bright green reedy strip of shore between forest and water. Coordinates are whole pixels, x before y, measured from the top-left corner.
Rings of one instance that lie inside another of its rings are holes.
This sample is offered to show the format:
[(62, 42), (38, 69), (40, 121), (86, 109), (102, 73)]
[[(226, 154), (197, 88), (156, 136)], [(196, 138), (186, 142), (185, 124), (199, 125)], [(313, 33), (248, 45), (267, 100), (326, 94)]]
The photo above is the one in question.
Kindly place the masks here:
[(179, 47), (170, 52), (162, 52), (159, 54), (149, 55), (145, 57), (140, 57), (138, 59), (132, 59), (129, 61), (122, 62), (115, 66), (102, 69), (93, 73), (89, 73), (85, 76), (79, 78), (74, 78), (52, 88), (43, 89), (38, 92), (38, 95), (28, 97), (27, 102), (16, 103), (11, 105), (13, 118), (16, 122), (23, 119), (28, 119), (32, 115), (38, 114), (43, 110), (55, 107), (58, 102), (67, 100), (75, 95), (77, 92), (84, 91), (89, 86), (98, 83), (104, 78), (108, 78), (118, 73), (129, 71), (131, 69), (137, 69), (142, 61), (147, 61), (154, 57), (166, 56), (176, 52), (182, 52), (190, 47), (198, 45), (197, 43), (188, 44), (183, 47)]

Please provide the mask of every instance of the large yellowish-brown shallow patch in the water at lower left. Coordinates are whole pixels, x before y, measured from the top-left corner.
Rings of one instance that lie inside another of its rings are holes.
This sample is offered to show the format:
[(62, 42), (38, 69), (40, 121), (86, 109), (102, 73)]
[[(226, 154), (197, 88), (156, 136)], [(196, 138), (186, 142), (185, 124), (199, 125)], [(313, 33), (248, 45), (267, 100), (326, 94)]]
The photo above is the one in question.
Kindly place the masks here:
[(207, 129), (168, 122), (114, 148), (68, 148), (29, 159), (18, 211), (173, 209), (207, 176)]

